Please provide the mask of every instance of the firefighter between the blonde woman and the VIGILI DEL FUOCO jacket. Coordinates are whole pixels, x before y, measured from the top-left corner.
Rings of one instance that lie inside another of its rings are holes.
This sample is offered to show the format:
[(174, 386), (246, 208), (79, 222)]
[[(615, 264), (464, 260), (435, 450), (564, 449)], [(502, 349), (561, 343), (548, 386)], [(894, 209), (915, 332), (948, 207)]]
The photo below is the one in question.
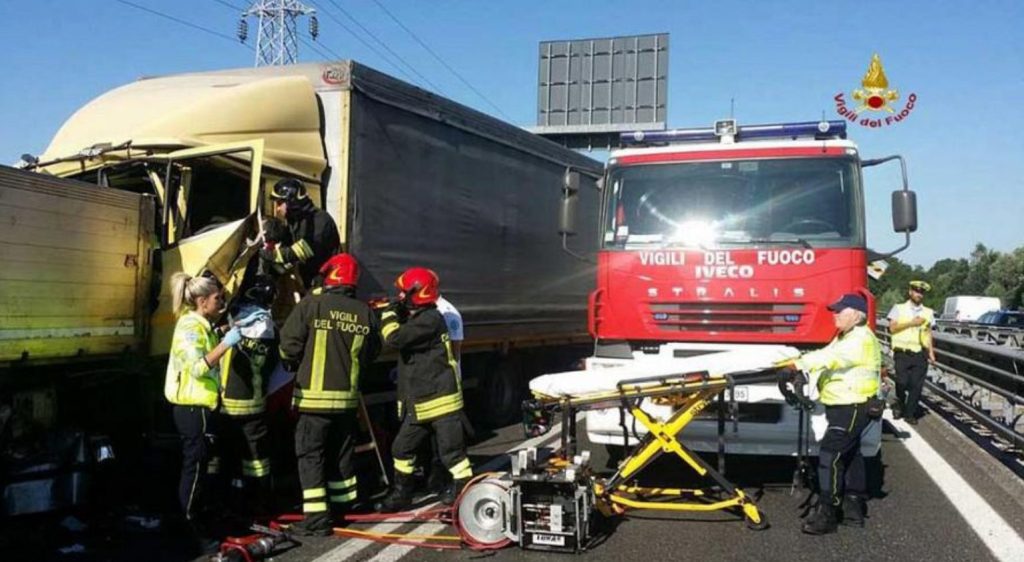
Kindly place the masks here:
[[(232, 317), (255, 318), (243, 329), (242, 342), (220, 359), (220, 402), (225, 415), (224, 441), (231, 461), (241, 464), (242, 478), (231, 486), (246, 491), (253, 511), (261, 513), (270, 501), (270, 434), (266, 420), (266, 388), (279, 363), (278, 336), (269, 312), (274, 280), (257, 275), (240, 299)], [(237, 467), (236, 467), (237, 468)]]

